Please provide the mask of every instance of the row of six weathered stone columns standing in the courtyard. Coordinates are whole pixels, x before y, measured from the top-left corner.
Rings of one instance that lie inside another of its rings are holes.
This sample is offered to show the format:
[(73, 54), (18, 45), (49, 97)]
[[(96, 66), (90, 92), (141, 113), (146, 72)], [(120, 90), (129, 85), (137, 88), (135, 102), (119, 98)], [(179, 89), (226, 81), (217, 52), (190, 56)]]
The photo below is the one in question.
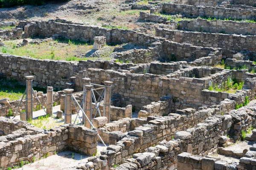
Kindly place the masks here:
[[(26, 76), (26, 120), (33, 118), (33, 88), (32, 88), (33, 76)], [(93, 85), (91, 85), (91, 79), (83, 79), (83, 94), (84, 101), (82, 103), (82, 109), (84, 110), (83, 121), (84, 126), (90, 128), (92, 121), (92, 102), (93, 102)], [(113, 82), (105, 81), (105, 93), (104, 93), (104, 113), (102, 116), (108, 117), (110, 122), (110, 108), (111, 108), (111, 85)], [(72, 122), (72, 92), (73, 89), (65, 89), (65, 124)], [(52, 114), (52, 103), (53, 103), (53, 88), (47, 87), (47, 114)], [(95, 103), (96, 105), (97, 103)], [(90, 121), (89, 121), (89, 120)]]

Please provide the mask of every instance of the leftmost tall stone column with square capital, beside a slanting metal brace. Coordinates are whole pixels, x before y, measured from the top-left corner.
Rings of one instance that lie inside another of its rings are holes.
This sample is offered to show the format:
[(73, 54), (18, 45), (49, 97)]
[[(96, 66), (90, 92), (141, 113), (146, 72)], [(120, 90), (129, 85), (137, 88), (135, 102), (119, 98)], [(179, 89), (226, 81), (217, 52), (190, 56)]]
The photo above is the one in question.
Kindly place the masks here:
[(33, 119), (33, 76), (26, 76), (26, 119)]

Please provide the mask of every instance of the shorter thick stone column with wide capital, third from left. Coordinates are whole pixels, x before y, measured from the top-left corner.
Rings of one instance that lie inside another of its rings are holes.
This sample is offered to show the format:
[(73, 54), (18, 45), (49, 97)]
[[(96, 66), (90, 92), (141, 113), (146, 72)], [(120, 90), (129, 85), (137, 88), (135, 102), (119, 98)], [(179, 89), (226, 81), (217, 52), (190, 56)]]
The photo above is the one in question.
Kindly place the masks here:
[(65, 96), (65, 124), (71, 123), (72, 121), (72, 92), (73, 89), (65, 89), (64, 92), (66, 94)]

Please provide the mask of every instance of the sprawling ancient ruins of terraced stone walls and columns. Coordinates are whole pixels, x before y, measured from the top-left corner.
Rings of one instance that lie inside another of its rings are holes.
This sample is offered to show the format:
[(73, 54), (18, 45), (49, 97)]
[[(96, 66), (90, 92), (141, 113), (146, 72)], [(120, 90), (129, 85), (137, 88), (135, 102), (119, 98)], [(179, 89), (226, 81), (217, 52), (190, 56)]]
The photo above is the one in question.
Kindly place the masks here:
[[(0, 169), (68, 150), (88, 158), (64, 170), (255, 170), (255, 1), (121, 3), (154, 34), (58, 18), (0, 21), (0, 81), (9, 80), (0, 85), (25, 91), (0, 98)], [(59, 42), (91, 46), (73, 60), (53, 50), (51, 59), (12, 54)]]

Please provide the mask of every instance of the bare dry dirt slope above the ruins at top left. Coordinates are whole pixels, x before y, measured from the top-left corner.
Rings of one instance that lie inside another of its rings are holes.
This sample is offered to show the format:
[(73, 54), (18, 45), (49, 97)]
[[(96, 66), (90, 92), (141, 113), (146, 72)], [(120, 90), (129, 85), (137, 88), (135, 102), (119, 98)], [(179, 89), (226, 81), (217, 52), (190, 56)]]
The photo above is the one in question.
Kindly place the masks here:
[(66, 3), (47, 3), (43, 6), (17, 6), (0, 8), (2, 20), (61, 19), (102, 26), (103, 23), (138, 28), (140, 10), (120, 11), (128, 6), (125, 0), (70, 0)]

